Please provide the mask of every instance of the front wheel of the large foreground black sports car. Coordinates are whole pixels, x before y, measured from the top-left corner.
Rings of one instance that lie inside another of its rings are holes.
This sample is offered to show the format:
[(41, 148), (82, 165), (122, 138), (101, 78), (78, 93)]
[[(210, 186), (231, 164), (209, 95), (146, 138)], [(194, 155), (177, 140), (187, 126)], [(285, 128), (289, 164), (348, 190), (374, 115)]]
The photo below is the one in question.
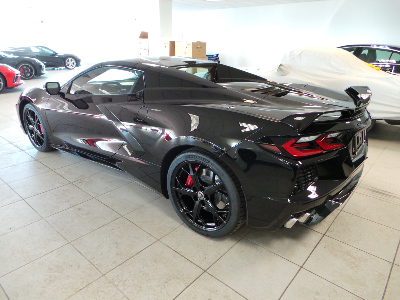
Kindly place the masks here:
[(26, 104), (24, 107), (24, 126), (30, 142), (37, 150), (42, 152), (54, 150), (50, 145), (43, 120), (32, 104)]

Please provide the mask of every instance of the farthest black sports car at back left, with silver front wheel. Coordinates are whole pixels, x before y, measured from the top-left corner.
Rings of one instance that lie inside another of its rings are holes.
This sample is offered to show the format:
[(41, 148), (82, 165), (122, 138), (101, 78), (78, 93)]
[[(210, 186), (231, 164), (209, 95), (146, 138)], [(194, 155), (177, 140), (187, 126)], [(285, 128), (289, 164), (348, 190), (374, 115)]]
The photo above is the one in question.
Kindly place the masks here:
[(65, 67), (69, 70), (80, 66), (80, 58), (74, 54), (57, 53), (44, 46), (18, 47), (3, 51), (16, 56), (28, 56), (37, 58), (46, 67)]

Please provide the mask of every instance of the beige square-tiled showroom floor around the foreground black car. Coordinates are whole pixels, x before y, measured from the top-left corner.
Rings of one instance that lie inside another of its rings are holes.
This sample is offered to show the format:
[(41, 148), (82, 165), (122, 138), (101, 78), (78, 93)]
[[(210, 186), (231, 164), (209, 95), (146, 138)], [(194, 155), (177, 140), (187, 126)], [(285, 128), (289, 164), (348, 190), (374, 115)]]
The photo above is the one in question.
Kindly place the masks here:
[(317, 226), (209, 239), (136, 178), (33, 149), (18, 95), (79, 71), (0, 94), (0, 300), (400, 299), (400, 126), (371, 130), (356, 192)]

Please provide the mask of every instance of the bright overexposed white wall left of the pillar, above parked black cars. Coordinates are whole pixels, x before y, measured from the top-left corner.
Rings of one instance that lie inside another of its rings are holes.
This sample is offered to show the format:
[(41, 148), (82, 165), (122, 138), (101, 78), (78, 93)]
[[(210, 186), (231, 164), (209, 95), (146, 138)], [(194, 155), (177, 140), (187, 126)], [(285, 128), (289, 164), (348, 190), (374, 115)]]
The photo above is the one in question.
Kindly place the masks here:
[(152, 13), (158, 12), (159, 0), (16, 3), (4, 0), (0, 4), (0, 50), (43, 45), (60, 53), (76, 54), (82, 63), (93, 64), (137, 56), (141, 31), (155, 32), (160, 37), (159, 14)]

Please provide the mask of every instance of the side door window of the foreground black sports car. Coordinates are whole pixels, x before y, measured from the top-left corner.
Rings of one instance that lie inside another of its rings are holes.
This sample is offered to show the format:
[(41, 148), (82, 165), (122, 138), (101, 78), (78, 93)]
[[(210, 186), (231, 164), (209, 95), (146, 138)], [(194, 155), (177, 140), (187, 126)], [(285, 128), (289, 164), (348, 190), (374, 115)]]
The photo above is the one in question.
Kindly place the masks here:
[(130, 94), (142, 72), (118, 67), (92, 69), (76, 78), (70, 86), (70, 94), (115, 95)]

